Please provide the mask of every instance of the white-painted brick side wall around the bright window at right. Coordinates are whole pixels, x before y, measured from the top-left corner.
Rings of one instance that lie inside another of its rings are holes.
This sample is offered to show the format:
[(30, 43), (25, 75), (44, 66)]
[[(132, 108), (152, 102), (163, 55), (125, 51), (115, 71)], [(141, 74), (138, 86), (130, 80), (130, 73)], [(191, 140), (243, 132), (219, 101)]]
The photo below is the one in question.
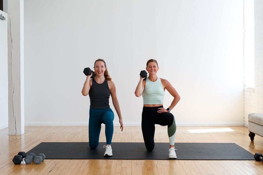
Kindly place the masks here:
[(255, 87), (245, 89), (244, 124), (248, 125), (248, 114), (263, 113), (263, 2), (254, 0), (255, 20)]

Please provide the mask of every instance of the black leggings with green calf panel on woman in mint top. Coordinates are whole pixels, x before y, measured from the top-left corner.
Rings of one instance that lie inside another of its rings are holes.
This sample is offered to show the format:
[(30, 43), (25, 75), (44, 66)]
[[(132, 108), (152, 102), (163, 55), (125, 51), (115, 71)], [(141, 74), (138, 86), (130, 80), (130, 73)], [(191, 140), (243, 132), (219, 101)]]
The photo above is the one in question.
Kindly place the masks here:
[[(163, 106), (143, 107), (143, 112), (141, 114), (141, 130), (143, 132), (144, 144), (148, 151), (154, 149), (154, 124), (161, 126), (168, 125), (168, 135), (173, 135), (176, 131), (174, 115), (169, 112), (158, 113), (158, 108), (163, 108)], [(169, 129), (170, 126), (172, 126), (172, 129)], [(169, 134), (169, 131), (173, 133)]]

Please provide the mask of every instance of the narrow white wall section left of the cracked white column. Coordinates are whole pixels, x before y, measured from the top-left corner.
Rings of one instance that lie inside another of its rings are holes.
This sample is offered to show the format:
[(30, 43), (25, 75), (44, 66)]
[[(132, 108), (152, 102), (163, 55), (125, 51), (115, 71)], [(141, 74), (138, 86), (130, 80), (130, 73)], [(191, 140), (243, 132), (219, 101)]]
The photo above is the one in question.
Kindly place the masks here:
[(0, 10), (6, 20), (0, 19), (0, 129), (8, 126), (8, 53), (7, 14)]

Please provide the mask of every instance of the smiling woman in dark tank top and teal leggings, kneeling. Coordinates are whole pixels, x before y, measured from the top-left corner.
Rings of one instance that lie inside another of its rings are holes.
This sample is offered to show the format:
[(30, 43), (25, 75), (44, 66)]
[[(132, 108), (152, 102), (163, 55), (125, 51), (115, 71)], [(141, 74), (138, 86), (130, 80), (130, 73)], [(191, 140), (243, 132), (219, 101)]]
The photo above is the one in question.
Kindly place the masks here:
[(123, 131), (122, 114), (116, 95), (115, 84), (108, 74), (106, 63), (98, 59), (94, 63), (95, 77), (92, 75), (86, 77), (82, 89), (82, 95), (90, 97), (89, 108), (89, 146), (95, 149), (99, 145), (99, 135), (101, 124), (105, 124), (106, 148), (104, 156), (112, 156), (112, 136), (114, 113), (109, 106), (109, 97), (112, 97), (112, 103), (119, 116), (120, 129)]

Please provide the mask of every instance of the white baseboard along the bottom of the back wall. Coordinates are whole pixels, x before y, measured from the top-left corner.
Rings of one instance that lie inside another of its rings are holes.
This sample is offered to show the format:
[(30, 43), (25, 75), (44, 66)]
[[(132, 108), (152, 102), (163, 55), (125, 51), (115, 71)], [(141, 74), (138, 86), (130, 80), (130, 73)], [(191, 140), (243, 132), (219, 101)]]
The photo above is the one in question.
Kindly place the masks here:
[[(141, 126), (141, 123), (124, 123), (123, 125)], [(25, 126), (89, 126), (89, 123), (25, 123)], [(113, 123), (113, 126), (120, 126), (120, 124)], [(244, 126), (244, 123), (176, 123), (176, 126)]]

